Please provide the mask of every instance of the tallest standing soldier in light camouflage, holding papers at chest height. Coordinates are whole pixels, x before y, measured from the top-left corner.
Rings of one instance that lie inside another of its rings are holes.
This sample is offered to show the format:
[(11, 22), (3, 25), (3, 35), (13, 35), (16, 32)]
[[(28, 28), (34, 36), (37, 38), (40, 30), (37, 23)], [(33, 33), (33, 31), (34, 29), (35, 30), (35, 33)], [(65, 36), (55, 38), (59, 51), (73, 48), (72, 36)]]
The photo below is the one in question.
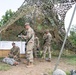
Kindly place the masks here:
[(33, 48), (34, 48), (34, 30), (30, 27), (29, 23), (25, 23), (25, 29), (27, 34), (22, 35), (23, 39), (26, 39), (26, 58), (27, 67), (33, 66)]

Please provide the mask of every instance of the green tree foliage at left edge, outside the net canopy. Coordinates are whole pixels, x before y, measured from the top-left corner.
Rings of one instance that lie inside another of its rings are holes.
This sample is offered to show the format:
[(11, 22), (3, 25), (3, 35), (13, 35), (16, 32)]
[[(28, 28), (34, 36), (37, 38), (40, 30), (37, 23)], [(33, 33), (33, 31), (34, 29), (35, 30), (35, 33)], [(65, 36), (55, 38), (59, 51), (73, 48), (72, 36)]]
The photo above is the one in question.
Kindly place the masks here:
[(0, 21), (0, 26), (4, 25), (12, 16), (13, 16), (14, 12), (10, 10), (7, 10), (5, 12), (5, 15), (2, 16), (2, 19)]

